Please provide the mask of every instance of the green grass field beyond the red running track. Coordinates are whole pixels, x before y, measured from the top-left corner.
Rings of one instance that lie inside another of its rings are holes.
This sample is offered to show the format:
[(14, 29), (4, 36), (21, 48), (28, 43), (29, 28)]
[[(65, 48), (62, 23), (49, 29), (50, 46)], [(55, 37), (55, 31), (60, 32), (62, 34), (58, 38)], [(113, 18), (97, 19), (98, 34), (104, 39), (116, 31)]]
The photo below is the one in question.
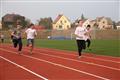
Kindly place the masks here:
[[(26, 40), (23, 40), (23, 43), (26, 44)], [(35, 46), (77, 51), (77, 45), (75, 40), (36, 39)], [(120, 57), (120, 40), (92, 40), (91, 49), (91, 51), (86, 49), (83, 52)]]

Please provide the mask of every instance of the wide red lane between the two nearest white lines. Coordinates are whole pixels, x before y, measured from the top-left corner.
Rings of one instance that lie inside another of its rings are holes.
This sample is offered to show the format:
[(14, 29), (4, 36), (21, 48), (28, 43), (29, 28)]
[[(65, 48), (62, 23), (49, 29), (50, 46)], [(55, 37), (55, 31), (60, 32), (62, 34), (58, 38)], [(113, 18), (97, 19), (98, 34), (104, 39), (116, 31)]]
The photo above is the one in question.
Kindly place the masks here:
[[(2, 50), (0, 50), (2, 51)], [(3, 54), (4, 53), (4, 54)], [(32, 58), (25, 57), (19, 54), (11, 54), (11, 52), (2, 51), (1, 56), (25, 66), (27, 69), (46, 76), (48, 79), (99, 79), (80, 72), (51, 65), (43, 61), (38, 61)], [(32, 65), (32, 66), (31, 66)], [(37, 68), (36, 68), (37, 67)]]

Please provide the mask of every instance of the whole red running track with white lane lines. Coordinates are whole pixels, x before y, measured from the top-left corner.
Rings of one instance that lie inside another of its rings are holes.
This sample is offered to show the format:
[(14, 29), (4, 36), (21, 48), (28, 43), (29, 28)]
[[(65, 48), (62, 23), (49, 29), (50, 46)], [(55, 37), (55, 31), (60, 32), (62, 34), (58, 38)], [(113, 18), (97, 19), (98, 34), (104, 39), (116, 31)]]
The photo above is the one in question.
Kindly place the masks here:
[(11, 45), (0, 45), (0, 80), (119, 80), (120, 58), (35, 48), (22, 54)]

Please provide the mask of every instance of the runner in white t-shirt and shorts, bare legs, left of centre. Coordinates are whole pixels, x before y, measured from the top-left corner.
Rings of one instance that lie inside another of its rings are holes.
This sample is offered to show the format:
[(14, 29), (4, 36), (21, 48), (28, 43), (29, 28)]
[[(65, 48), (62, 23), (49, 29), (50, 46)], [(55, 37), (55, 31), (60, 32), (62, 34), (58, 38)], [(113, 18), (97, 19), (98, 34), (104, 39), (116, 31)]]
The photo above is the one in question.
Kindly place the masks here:
[(37, 36), (37, 32), (34, 28), (34, 24), (30, 24), (29, 28), (25, 31), (27, 34), (27, 46), (30, 47), (30, 54), (32, 54), (34, 48), (34, 38)]

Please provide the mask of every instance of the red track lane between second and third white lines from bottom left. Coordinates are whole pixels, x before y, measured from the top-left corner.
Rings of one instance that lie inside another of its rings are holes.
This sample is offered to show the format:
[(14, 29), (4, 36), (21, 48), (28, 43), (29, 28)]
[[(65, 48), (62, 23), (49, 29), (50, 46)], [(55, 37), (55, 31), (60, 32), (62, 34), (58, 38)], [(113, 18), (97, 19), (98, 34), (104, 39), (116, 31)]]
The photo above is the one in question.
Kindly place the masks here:
[(51, 56), (48, 57), (45, 55), (41, 55), (38, 52), (34, 52), (34, 55), (32, 55), (32, 56), (37, 57), (39, 59), (44, 59), (44, 60), (51, 61), (54, 63), (69, 66), (69, 67), (72, 67), (74, 69), (85, 71), (87, 73), (98, 75), (98, 76), (101, 76), (101, 77), (104, 77), (107, 79), (115, 80), (115, 79), (120, 78), (120, 76), (119, 76), (120, 70), (112, 70), (112, 69), (108, 69), (108, 68), (94, 66), (91, 64), (79, 63), (79, 62), (75, 62), (75, 61), (71, 61), (71, 60), (66, 60), (64, 58), (51, 57)]

